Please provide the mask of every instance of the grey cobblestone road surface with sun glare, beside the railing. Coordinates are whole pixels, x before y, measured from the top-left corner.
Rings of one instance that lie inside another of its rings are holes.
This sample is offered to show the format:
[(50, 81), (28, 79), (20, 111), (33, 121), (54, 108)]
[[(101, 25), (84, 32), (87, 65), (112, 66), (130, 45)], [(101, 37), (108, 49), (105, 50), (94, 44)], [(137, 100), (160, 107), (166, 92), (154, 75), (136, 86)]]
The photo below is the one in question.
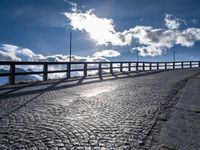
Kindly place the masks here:
[(161, 112), (198, 71), (2, 87), (0, 149), (148, 149)]

